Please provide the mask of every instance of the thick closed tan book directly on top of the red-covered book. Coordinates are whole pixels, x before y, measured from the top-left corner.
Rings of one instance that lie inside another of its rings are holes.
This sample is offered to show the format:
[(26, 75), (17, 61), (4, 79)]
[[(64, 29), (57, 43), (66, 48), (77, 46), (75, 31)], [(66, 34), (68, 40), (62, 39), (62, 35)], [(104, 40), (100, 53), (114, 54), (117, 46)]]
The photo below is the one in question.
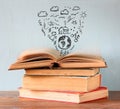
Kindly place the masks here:
[(88, 92), (101, 85), (101, 74), (94, 76), (24, 75), (22, 87), (31, 90)]

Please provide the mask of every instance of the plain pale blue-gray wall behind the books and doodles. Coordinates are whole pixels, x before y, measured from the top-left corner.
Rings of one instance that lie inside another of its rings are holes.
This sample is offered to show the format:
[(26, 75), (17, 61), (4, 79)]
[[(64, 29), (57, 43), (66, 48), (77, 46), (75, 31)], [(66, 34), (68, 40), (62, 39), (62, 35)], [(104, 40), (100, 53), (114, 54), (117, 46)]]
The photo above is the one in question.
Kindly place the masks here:
[(75, 6), (86, 10), (83, 33), (74, 51), (101, 54), (102, 85), (120, 90), (119, 0), (0, 0), (0, 90), (17, 90), (24, 70), (8, 71), (18, 55), (29, 48), (54, 48), (41, 32), (37, 13), (51, 6)]

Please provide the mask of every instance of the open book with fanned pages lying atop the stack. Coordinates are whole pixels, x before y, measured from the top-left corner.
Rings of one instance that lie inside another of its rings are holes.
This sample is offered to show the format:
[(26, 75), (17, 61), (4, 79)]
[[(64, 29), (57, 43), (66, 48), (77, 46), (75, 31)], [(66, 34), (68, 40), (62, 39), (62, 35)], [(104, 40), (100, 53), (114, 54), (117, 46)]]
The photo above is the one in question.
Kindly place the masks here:
[(57, 50), (27, 50), (24, 51), (13, 63), (9, 70), (28, 68), (100, 68), (106, 67), (106, 62), (101, 56), (88, 54), (68, 54), (61, 56)]

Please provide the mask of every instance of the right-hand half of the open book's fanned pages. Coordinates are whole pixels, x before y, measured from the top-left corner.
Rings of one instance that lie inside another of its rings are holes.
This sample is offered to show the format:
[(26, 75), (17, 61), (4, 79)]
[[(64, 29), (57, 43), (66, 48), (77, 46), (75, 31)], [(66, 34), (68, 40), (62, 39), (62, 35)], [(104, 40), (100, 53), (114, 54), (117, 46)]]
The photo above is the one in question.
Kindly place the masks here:
[(91, 54), (69, 54), (58, 60), (62, 68), (87, 68), (106, 67), (106, 62), (101, 56)]

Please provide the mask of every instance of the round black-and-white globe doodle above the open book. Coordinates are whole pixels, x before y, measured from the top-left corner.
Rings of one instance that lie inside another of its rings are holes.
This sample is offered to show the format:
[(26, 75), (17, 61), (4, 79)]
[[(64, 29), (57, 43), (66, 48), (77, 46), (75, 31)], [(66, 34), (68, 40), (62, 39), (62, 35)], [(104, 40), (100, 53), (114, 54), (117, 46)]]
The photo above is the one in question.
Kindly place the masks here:
[(68, 36), (61, 36), (58, 39), (58, 47), (60, 49), (68, 49), (71, 46), (71, 39)]

